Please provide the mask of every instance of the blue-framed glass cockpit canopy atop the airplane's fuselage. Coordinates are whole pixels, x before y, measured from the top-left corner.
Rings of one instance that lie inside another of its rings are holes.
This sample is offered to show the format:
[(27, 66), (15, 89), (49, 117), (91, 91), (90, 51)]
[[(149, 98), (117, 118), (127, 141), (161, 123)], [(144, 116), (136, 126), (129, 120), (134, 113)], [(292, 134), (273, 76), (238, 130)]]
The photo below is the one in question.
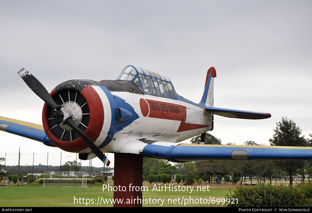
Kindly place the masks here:
[(122, 70), (117, 80), (132, 81), (145, 94), (176, 99), (170, 79), (158, 73), (129, 65)]

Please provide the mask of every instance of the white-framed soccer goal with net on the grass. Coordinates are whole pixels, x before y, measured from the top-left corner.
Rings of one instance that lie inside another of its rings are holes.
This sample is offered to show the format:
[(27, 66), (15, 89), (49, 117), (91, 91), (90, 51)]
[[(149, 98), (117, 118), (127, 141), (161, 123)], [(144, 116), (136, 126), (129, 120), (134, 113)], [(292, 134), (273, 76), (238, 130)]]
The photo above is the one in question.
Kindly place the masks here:
[(44, 172), (43, 187), (88, 188), (86, 172)]

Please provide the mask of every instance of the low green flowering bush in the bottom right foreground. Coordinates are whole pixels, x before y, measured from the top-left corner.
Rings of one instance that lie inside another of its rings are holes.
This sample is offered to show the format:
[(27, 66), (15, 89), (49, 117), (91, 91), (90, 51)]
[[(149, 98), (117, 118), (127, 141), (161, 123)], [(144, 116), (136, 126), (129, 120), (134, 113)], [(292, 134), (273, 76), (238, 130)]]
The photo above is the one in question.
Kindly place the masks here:
[[(257, 184), (255, 186), (237, 186), (226, 195), (234, 198), (228, 207), (303, 207), (312, 204), (312, 182), (296, 186)], [(237, 199), (237, 202), (236, 202)], [(235, 203), (235, 204), (234, 204)]]

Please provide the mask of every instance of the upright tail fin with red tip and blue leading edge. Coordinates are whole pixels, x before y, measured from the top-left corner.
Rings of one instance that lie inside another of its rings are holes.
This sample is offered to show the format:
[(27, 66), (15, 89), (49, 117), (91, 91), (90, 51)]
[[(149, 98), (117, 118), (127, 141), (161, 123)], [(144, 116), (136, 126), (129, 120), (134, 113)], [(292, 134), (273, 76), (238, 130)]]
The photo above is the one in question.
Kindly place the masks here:
[(207, 71), (204, 93), (199, 105), (213, 107), (213, 78), (215, 77), (217, 77), (216, 69), (212, 66)]

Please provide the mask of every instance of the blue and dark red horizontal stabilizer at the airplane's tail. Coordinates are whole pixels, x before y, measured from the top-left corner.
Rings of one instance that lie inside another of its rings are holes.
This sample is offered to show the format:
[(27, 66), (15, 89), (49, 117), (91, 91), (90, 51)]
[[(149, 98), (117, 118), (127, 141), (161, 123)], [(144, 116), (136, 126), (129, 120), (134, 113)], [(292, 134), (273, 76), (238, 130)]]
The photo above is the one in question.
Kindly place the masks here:
[(241, 111), (236, 109), (223, 109), (217, 107), (205, 107), (208, 113), (213, 113), (215, 115), (220, 115), (227, 118), (239, 118), (239, 119), (266, 119), (270, 118), (271, 114), (269, 113), (260, 113), (260, 112), (248, 112)]

